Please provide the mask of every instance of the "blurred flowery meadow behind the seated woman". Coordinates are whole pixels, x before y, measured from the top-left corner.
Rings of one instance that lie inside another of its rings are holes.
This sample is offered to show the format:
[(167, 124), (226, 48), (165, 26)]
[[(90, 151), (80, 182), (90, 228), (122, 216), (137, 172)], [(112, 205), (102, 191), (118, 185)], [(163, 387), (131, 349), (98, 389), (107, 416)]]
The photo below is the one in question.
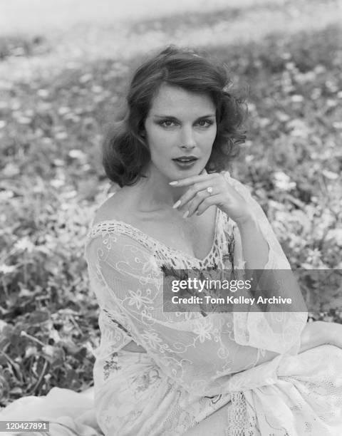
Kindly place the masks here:
[[(100, 144), (152, 48), (197, 46), (227, 64), (249, 105), (232, 175), (294, 269), (342, 269), (339, 2), (189, 0), (155, 4), (153, 19), (133, 1), (82, 3), (81, 19), (61, 1), (52, 20), (42, 2), (16, 0), (17, 28), (0, 26), (0, 405), (92, 384), (98, 308), (83, 249), (112, 190)], [(341, 322), (339, 283), (304, 277), (311, 319)]]

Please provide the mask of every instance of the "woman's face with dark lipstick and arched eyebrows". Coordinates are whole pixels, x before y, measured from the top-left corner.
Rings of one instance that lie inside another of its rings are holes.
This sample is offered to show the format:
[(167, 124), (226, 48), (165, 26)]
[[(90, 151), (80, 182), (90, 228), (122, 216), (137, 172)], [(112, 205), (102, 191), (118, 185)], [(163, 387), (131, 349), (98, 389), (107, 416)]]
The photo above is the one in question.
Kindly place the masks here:
[(215, 113), (209, 95), (161, 85), (145, 120), (150, 170), (168, 180), (198, 175), (212, 152)]

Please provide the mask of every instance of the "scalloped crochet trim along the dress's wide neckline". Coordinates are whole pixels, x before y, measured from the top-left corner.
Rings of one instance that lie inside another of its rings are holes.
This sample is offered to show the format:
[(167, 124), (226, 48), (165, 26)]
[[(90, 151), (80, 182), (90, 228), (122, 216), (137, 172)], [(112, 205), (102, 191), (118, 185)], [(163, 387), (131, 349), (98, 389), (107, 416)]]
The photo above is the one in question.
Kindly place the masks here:
[(138, 227), (133, 226), (133, 224), (129, 224), (128, 222), (125, 222), (121, 219), (104, 219), (104, 220), (97, 222), (96, 224), (93, 224), (93, 222), (92, 222), (90, 224), (90, 232), (89, 233), (91, 234), (92, 231), (95, 232), (97, 227), (101, 227), (101, 226), (103, 227), (103, 225), (105, 225), (105, 224), (119, 224), (119, 225), (122, 225), (123, 227), (127, 227), (128, 229), (133, 230), (133, 232), (135, 232), (136, 234), (139, 234), (144, 239), (149, 239), (155, 246), (160, 245), (160, 246), (162, 246), (170, 251), (173, 251), (173, 252), (178, 253), (178, 254), (182, 254), (182, 256), (185, 256), (188, 259), (195, 259), (197, 262), (202, 264), (205, 261), (207, 261), (207, 259), (211, 256), (212, 252), (214, 251), (214, 247), (217, 244), (218, 227), (219, 227), (218, 223), (219, 223), (220, 212), (222, 212), (221, 209), (219, 209), (219, 207), (217, 207), (216, 208), (216, 215), (215, 215), (215, 227), (214, 227), (214, 237), (212, 240), (212, 245), (209, 249), (209, 252), (207, 253), (206, 256), (204, 256), (203, 259), (199, 259), (198, 257), (192, 256), (191, 254), (188, 254), (183, 250), (176, 249), (175, 247), (167, 245), (164, 242), (161, 242), (159, 239), (156, 239), (156, 238), (150, 236), (150, 234), (142, 232), (142, 230), (138, 229)]

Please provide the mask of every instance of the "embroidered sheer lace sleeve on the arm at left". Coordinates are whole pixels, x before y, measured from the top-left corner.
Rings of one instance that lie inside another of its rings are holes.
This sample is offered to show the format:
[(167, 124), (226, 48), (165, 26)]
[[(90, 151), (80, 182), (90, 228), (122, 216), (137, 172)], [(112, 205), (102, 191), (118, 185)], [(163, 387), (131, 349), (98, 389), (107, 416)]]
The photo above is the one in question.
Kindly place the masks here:
[(162, 270), (135, 239), (116, 232), (94, 237), (86, 259), (100, 306), (113, 318), (118, 313), (133, 340), (190, 393), (229, 392), (234, 373), (266, 360), (265, 351), (234, 341), (231, 313), (164, 312)]

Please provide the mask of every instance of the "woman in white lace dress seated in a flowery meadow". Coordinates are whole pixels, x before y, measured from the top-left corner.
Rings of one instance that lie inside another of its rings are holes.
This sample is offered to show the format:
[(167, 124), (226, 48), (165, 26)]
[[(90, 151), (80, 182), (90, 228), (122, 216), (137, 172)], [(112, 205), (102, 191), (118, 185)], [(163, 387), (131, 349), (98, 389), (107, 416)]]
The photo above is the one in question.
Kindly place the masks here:
[(306, 325), (303, 311), (163, 306), (165, 271), (290, 268), (261, 207), (224, 171), (244, 140), (227, 85), (222, 66), (170, 46), (135, 72), (105, 142), (105, 171), (120, 189), (86, 245), (105, 435), (342, 432), (340, 325)]

